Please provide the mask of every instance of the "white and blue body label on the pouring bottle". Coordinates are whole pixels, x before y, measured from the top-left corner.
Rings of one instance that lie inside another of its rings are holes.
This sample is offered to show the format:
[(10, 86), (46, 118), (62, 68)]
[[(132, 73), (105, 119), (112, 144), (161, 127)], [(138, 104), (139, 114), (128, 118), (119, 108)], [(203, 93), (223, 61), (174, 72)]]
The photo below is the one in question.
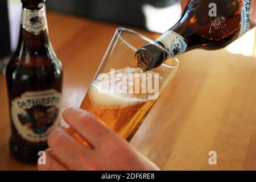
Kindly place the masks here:
[(242, 0), (241, 29), (240, 29), (239, 37), (241, 37), (251, 28), (249, 13), (250, 13), (250, 0)]

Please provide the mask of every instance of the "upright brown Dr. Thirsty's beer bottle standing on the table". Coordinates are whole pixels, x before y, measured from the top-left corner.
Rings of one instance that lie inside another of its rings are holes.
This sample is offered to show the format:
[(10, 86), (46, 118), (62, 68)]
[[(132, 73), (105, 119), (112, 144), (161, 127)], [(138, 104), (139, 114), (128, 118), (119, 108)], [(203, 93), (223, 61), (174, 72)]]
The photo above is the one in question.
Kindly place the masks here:
[(63, 72), (48, 38), (44, 1), (22, 0), (19, 43), (6, 68), (10, 152), (25, 163), (36, 163), (60, 123)]

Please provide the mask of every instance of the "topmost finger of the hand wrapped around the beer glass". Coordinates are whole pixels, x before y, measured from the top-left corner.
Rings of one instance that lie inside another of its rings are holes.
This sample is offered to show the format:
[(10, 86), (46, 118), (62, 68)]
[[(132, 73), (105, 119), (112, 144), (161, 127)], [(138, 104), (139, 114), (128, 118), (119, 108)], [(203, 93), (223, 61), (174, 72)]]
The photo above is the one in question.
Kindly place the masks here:
[(69, 108), (63, 112), (63, 119), (81, 135), (93, 148), (108, 143), (108, 138), (117, 138), (114, 131), (104, 126), (88, 111)]

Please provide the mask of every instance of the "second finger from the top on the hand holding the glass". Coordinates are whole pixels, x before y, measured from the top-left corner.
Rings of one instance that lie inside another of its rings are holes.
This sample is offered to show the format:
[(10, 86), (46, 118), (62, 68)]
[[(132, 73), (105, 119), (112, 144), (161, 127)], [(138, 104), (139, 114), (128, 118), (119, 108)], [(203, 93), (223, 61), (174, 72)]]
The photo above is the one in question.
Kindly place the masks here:
[(92, 150), (66, 133), (61, 127), (54, 129), (48, 137), (49, 148), (57, 159), (71, 169), (82, 169), (92, 159)]

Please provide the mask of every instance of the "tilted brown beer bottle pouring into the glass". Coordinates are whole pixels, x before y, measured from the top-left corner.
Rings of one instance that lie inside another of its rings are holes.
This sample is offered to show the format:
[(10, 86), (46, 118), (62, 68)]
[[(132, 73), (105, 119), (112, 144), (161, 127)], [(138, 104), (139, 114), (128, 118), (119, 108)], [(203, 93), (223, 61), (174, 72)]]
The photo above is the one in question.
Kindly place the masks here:
[[(155, 40), (171, 56), (192, 49), (214, 50), (228, 46), (253, 26), (249, 20), (250, 0), (192, 0), (179, 22)], [(156, 68), (168, 55), (148, 43), (136, 53), (143, 71)]]

